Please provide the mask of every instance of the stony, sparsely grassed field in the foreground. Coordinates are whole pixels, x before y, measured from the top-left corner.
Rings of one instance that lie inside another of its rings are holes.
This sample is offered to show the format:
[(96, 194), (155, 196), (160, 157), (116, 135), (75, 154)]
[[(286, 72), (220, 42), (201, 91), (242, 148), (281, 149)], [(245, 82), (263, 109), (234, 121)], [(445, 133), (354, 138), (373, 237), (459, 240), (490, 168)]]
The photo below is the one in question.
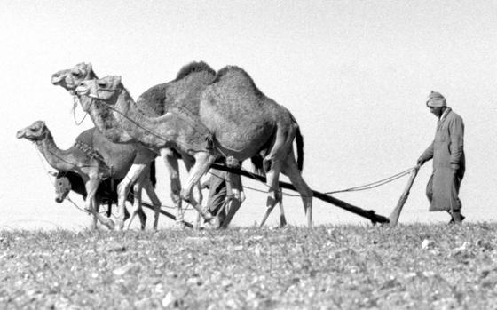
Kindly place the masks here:
[(496, 230), (1, 232), (0, 308), (494, 308)]

